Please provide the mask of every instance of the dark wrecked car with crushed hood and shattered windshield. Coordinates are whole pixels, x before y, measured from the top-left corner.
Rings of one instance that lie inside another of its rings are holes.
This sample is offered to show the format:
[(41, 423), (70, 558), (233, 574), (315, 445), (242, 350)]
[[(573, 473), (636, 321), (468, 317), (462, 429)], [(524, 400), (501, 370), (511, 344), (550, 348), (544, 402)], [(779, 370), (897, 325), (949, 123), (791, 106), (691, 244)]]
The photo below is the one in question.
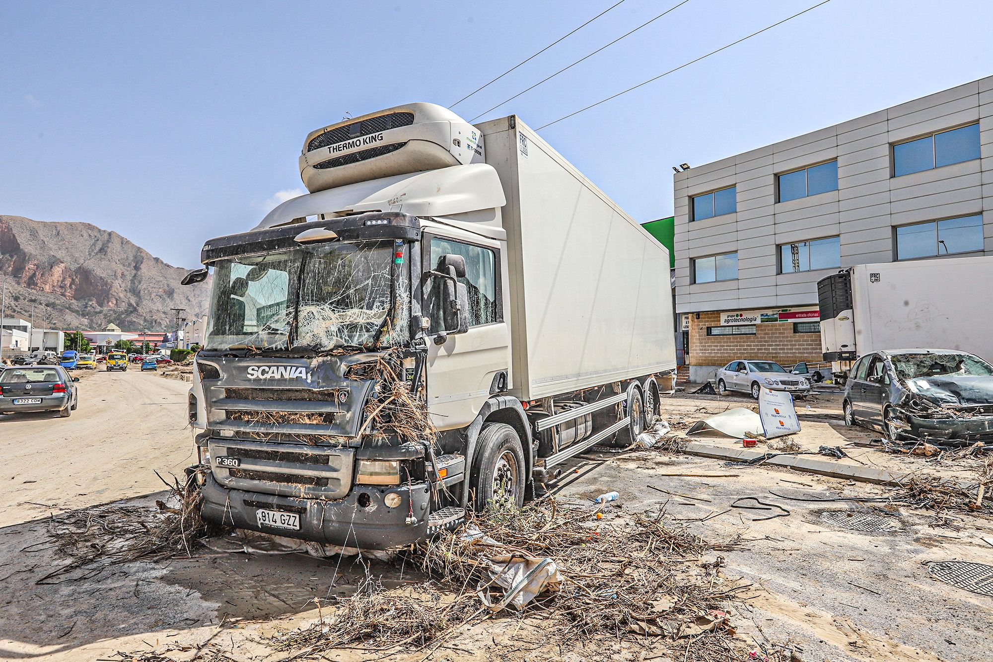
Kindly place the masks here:
[(958, 350), (870, 352), (849, 371), (841, 409), (845, 424), (891, 441), (993, 443), (993, 366)]

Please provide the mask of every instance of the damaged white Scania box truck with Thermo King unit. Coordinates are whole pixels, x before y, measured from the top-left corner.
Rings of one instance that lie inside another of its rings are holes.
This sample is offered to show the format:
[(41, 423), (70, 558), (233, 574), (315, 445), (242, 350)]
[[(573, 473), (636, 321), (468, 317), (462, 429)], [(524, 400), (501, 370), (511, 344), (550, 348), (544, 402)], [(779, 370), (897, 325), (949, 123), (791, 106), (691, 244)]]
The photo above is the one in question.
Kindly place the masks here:
[[(205, 518), (388, 549), (520, 505), (658, 415), (667, 251), (516, 116), (389, 108), (312, 132), (300, 169), (309, 194), (184, 280), (213, 269), (190, 398)], [(434, 441), (376, 429), (381, 360)]]

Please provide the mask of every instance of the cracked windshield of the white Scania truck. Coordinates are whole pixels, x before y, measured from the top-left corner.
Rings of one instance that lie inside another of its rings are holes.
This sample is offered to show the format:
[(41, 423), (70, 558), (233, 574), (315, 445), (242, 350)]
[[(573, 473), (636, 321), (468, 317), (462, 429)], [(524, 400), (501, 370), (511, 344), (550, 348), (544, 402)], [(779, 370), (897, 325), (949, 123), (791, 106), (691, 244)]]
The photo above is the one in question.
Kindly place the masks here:
[(390, 242), (334, 244), (219, 262), (208, 349), (328, 351), (403, 340), (406, 278), (389, 317), (392, 266), (402, 259), (394, 254)]

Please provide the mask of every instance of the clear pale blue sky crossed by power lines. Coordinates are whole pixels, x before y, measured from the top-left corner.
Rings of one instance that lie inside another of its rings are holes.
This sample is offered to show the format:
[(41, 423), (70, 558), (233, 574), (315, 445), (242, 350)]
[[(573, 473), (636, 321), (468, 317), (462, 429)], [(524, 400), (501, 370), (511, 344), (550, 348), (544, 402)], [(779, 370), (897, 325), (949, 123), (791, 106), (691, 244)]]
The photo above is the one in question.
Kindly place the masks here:
[[(451, 104), (616, 0), (2, 2), (0, 214), (196, 266), (302, 189), (311, 129)], [(484, 118), (539, 126), (817, 0), (689, 0)], [(626, 0), (459, 105), (468, 118), (676, 4)], [(832, 0), (542, 135), (638, 221), (701, 164), (993, 75), (993, 3)], [(283, 193), (284, 197), (288, 194)]]

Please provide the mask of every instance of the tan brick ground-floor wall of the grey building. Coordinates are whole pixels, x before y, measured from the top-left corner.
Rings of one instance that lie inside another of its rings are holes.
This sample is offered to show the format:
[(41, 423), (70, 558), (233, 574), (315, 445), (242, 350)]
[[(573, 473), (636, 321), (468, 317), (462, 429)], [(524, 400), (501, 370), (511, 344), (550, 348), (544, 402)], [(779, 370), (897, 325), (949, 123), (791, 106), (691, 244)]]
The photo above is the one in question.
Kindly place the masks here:
[(690, 366), (723, 366), (735, 359), (771, 359), (787, 366), (822, 361), (819, 333), (793, 333), (791, 322), (756, 324), (754, 336), (708, 336), (720, 326), (720, 312), (689, 313)]

